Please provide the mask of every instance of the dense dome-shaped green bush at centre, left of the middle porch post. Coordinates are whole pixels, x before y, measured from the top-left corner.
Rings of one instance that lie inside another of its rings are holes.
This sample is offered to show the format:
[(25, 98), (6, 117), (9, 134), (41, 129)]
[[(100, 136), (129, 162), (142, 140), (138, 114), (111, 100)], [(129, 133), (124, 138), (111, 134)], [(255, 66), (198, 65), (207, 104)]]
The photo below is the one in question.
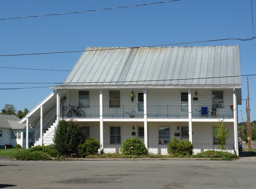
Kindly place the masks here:
[(139, 137), (126, 138), (122, 142), (121, 153), (125, 155), (147, 155), (148, 150)]

